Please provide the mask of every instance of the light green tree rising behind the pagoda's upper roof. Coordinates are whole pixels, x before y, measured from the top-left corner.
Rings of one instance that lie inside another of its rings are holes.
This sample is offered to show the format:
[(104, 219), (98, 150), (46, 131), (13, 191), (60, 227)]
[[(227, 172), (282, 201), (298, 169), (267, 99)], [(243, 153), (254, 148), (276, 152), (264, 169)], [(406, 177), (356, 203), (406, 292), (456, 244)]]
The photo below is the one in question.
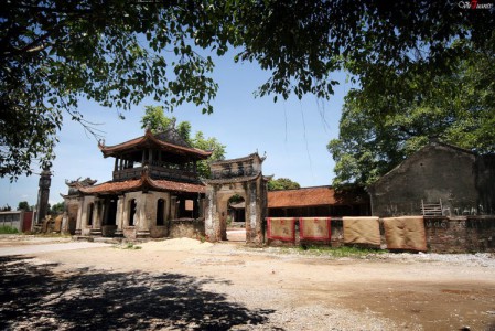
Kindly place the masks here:
[[(141, 119), (141, 128), (150, 128), (152, 132), (163, 131), (170, 126), (175, 128), (176, 118), (166, 117), (163, 106), (146, 106), (144, 115)], [(202, 131), (196, 131), (194, 137), (191, 137), (191, 124), (189, 121), (181, 121), (176, 125), (176, 131), (191, 147), (202, 150), (213, 151), (208, 160), (198, 161), (196, 164), (197, 173), (202, 178), (209, 178), (211, 161), (219, 161), (225, 159), (225, 146), (222, 145), (216, 138), (205, 138)]]

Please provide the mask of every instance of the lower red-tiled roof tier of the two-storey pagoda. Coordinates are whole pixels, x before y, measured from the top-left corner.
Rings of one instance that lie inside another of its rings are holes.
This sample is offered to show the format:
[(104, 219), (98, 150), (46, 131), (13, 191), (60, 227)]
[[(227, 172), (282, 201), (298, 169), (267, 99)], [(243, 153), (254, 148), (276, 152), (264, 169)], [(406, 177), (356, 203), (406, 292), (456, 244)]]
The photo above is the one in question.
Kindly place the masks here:
[(128, 180), (123, 182), (110, 181), (99, 185), (79, 189), (80, 192), (86, 194), (118, 194), (140, 190), (204, 193), (205, 186), (203, 184), (182, 183), (168, 180), (152, 180), (148, 175), (143, 175), (139, 180)]

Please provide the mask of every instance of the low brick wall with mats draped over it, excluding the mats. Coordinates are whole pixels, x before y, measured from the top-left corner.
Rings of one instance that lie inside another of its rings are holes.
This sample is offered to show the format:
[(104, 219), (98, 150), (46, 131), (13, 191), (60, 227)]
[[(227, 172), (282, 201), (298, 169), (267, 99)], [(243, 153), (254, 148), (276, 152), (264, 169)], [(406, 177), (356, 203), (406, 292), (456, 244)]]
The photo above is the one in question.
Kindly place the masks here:
[[(385, 231), (380, 223), (380, 247), (386, 249)], [(268, 241), (265, 223), (265, 238), (268, 245), (325, 245), (332, 247), (344, 246), (342, 218), (331, 221), (331, 239), (327, 242), (301, 241), (299, 237), (299, 222), (295, 222), (295, 241)], [(495, 216), (431, 216), (424, 217), (424, 231), (428, 252), (432, 253), (474, 253), (495, 252)], [(357, 245), (356, 245), (357, 246)]]

